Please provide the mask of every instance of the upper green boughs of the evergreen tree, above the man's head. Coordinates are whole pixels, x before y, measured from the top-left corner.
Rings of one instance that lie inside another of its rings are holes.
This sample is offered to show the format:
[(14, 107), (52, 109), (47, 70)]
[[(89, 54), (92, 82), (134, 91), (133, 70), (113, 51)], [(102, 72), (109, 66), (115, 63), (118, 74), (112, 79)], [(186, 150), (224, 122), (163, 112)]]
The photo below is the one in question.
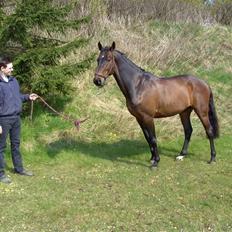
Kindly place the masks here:
[[(69, 20), (68, 14), (73, 4), (55, 7), (49, 0), (21, 0), (16, 6), (15, 13), (1, 20), (0, 45), (7, 46), (9, 41), (18, 42), (25, 48), (31, 48), (33, 35), (31, 29), (38, 27), (48, 34), (51, 32), (65, 33), (68, 28), (79, 29), (83, 23), (88, 23), (90, 17), (86, 16), (77, 20)], [(3, 11), (0, 11), (0, 19)]]

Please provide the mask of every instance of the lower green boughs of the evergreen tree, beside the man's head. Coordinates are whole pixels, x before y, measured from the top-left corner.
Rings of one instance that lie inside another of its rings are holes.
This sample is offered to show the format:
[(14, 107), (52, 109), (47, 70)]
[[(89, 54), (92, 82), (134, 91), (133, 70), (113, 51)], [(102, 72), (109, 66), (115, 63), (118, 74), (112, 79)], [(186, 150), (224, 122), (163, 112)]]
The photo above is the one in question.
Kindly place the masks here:
[(86, 70), (93, 59), (89, 56), (80, 63), (60, 65), (59, 58), (73, 49), (85, 46), (88, 40), (76, 39), (64, 46), (29, 49), (16, 57), (15, 67), (18, 79), (27, 85), (24, 88), (42, 95), (54, 96), (70, 93), (70, 76)]

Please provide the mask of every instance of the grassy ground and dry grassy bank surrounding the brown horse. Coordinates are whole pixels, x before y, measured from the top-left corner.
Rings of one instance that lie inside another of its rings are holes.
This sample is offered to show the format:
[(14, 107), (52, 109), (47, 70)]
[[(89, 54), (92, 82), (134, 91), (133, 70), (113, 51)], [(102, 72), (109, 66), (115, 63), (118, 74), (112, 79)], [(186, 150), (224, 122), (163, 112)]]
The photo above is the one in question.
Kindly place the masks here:
[(11, 172), (8, 146), (6, 171), (13, 183), (0, 184), (0, 231), (232, 231), (231, 29), (104, 25), (89, 47), (62, 62), (97, 52), (98, 40), (115, 40), (120, 51), (157, 75), (191, 72), (207, 80), (221, 127), (217, 163), (207, 164), (209, 144), (194, 115), (190, 153), (175, 161), (183, 129), (172, 117), (155, 120), (161, 161), (151, 170), (148, 145), (115, 81), (97, 89), (93, 64), (74, 80), (76, 92), (60, 106), (73, 116), (90, 117), (79, 132), (40, 103), (32, 122), (23, 118), (24, 163), (35, 176)]

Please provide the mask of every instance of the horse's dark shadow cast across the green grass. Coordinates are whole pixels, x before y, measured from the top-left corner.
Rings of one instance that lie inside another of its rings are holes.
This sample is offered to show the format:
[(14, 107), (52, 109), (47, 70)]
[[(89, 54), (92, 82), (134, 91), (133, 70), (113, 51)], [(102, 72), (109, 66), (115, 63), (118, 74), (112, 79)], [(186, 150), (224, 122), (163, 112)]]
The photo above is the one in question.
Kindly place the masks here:
[[(180, 150), (170, 147), (170, 145), (168, 146), (169, 147), (162, 145), (158, 147), (160, 157), (162, 159), (162, 156), (166, 156), (174, 160)], [(117, 142), (105, 143), (86, 142), (68, 138), (60, 139), (47, 145), (47, 153), (50, 158), (56, 157), (62, 151), (76, 152), (77, 154), (82, 153), (91, 157), (116, 162), (150, 166), (149, 162), (147, 162), (147, 165), (144, 164), (144, 161), (149, 161), (151, 154), (148, 144), (142, 140), (120, 140)], [(146, 160), (136, 157), (142, 154), (146, 154)]]

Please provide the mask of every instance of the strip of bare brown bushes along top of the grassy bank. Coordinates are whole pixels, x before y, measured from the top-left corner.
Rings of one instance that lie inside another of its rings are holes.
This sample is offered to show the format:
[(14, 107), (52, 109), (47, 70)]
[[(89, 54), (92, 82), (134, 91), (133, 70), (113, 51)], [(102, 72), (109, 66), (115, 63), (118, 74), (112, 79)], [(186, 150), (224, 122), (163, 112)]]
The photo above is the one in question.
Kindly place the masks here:
[[(204, 0), (109, 0), (107, 14), (110, 19), (124, 18), (127, 22), (159, 19), (171, 22), (231, 24), (232, 3)], [(205, 3), (205, 4), (204, 4)]]

